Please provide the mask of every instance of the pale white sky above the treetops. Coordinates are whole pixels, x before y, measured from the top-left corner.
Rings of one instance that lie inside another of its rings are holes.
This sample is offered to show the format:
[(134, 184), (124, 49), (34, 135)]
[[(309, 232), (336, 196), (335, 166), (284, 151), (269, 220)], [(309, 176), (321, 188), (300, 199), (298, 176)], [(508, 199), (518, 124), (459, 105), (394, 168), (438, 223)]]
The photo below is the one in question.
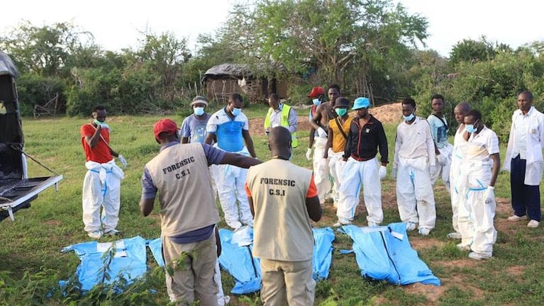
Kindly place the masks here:
[[(428, 20), (426, 47), (448, 57), (451, 48), (463, 39), (506, 43), (514, 49), (544, 40), (541, 15), (544, 1), (538, 0), (393, 0), (409, 13)], [(21, 21), (33, 26), (71, 22), (91, 32), (106, 50), (138, 47), (146, 29), (151, 33), (171, 32), (187, 38), (195, 50), (199, 33), (212, 34), (226, 21), (236, 0), (9, 0), (2, 3), (0, 35), (6, 35)], [(150, 4), (152, 4), (150, 6)]]

